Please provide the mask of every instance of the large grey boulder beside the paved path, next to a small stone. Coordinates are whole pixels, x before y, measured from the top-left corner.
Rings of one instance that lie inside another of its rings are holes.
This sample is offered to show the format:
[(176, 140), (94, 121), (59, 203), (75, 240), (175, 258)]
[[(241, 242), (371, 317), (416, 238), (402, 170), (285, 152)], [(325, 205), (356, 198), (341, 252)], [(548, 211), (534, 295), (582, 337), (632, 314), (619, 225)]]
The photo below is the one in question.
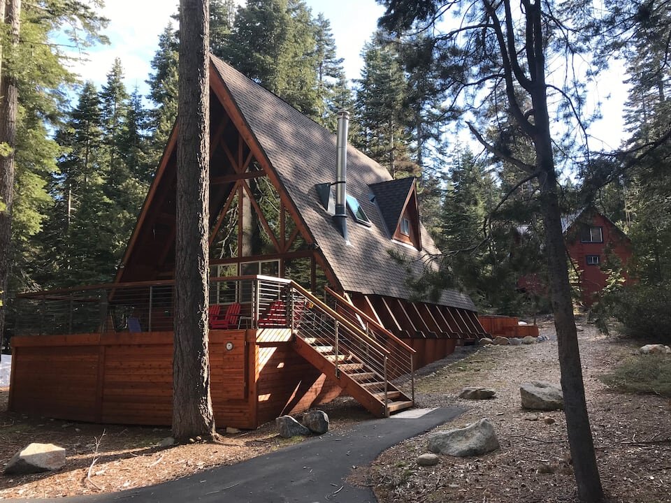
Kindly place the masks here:
[(489, 419), (480, 419), (466, 428), (437, 432), (428, 438), (429, 451), (461, 458), (496, 451), (498, 448), (498, 438)]

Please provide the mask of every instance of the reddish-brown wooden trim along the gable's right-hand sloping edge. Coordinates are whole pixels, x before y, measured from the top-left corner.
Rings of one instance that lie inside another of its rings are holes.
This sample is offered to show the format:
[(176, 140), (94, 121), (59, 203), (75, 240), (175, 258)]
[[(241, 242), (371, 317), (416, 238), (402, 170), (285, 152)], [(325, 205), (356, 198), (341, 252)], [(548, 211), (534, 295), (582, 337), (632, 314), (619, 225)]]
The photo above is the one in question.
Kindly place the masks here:
[[(284, 189), (282, 181), (277, 176), (277, 173), (275, 173), (275, 170), (270, 164), (270, 159), (268, 159), (268, 156), (266, 156), (266, 152), (264, 152), (261, 144), (259, 143), (259, 140), (257, 140), (257, 137), (254, 136), (252, 129), (250, 128), (249, 124), (247, 124), (247, 120), (243, 116), (243, 113), (240, 112), (240, 108), (238, 108), (237, 103), (235, 100), (233, 100), (231, 92), (229, 92), (228, 87), (226, 87), (226, 82), (224, 82), (222, 76), (219, 75), (219, 72), (215, 68), (214, 64), (212, 64), (212, 61), (210, 61), (210, 89), (219, 99), (219, 102), (222, 104), (224, 111), (229, 115), (233, 126), (235, 126), (238, 130), (240, 137), (245, 140), (247, 147), (250, 148), (250, 153), (254, 154), (254, 159), (256, 159), (257, 162), (261, 165), (261, 169), (266, 172), (270, 178), (270, 182), (272, 182), (275, 186), (275, 189), (277, 189), (277, 193), (280, 194), (280, 201), (282, 202), (282, 205), (284, 205), (286, 210), (289, 212), (291, 218), (294, 219), (296, 228), (298, 228), (298, 230), (301, 232), (301, 235), (303, 235), (305, 242), (308, 245), (314, 244), (315, 237), (312, 235), (312, 233), (310, 233), (308, 225), (305, 224), (305, 221), (303, 220), (300, 212), (298, 212), (298, 208), (294, 204), (294, 201), (291, 200), (291, 196), (289, 196), (287, 190)], [(242, 238), (240, 236), (240, 240), (238, 240), (238, 242), (241, 242), (241, 239)], [(322, 269), (324, 270), (324, 273), (326, 274), (327, 279), (329, 279), (329, 282), (331, 282), (332, 286), (335, 289), (342, 291), (342, 284), (340, 284), (340, 281), (331, 268), (331, 265), (329, 265), (328, 261), (326, 261), (324, 254), (321, 252), (316, 253), (315, 259), (319, 261), (319, 265), (322, 266)]]

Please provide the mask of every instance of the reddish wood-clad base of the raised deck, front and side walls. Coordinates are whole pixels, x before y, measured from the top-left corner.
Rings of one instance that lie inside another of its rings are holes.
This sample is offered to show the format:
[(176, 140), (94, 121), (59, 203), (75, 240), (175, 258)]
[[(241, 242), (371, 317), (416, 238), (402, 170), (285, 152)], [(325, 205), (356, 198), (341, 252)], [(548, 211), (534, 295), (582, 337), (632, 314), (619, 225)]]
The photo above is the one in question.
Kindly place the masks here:
[[(210, 331), (217, 427), (257, 428), (340, 394), (335, 381), (293, 351), (288, 332)], [(24, 336), (12, 343), (10, 410), (72, 421), (171, 424), (172, 332)]]

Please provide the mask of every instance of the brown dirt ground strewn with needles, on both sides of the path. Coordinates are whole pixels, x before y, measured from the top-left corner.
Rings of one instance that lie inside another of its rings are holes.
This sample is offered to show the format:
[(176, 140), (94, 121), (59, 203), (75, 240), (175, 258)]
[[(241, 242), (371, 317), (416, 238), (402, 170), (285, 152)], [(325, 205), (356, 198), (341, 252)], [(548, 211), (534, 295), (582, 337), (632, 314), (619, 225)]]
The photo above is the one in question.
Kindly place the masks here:
[[(480, 418), (493, 421), (501, 449), (479, 458), (441, 456), (435, 467), (418, 467), (427, 435), (383, 453), (350, 480), (371, 486), (380, 502), (573, 502), (575, 481), (561, 411), (524, 411), (519, 384), (559, 381), (557, 344), (460, 348), (421, 370), (419, 407), (456, 405), (468, 411), (442, 428)], [(671, 403), (651, 395), (622, 395), (598, 377), (630, 355), (631, 341), (604, 337), (584, 324), (579, 332), (586, 394), (598, 463), (608, 502), (671, 502)], [(493, 400), (456, 398), (464, 386), (495, 388)], [(273, 451), (296, 440), (277, 437), (273, 424), (227, 434), (222, 444), (159, 446), (168, 428), (72, 423), (6, 411), (8, 389), (0, 388), (0, 468), (30, 442), (52, 442), (68, 455), (52, 474), (0, 475), (0, 500), (96, 494), (147, 486), (209, 467), (228, 465)], [(327, 404), (333, 430), (346, 430), (371, 416), (352, 400)]]

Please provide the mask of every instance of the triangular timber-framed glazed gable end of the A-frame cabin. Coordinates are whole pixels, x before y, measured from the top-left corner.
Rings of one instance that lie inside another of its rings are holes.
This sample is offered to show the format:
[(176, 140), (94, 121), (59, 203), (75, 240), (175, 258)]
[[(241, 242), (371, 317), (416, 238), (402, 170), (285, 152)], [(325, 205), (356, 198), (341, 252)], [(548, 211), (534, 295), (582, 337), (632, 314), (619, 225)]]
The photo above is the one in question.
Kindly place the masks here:
[[(256, 240), (263, 244), (258, 255), (296, 253), (311, 248), (314, 238), (308, 231), (296, 205), (282, 186), (270, 161), (254, 137), (236, 102), (226, 88), (222, 77), (210, 63), (210, 253), (215, 251), (214, 262), (226, 258), (243, 258), (254, 253), (242, 249), (222, 254), (222, 226), (231, 214), (253, 214), (257, 224)], [(237, 138), (234, 138), (237, 137)], [(116, 282), (168, 279), (173, 274), (175, 237), (175, 151), (177, 128), (173, 129), (157, 174), (143, 205), (134, 233), (124, 254), (122, 268)], [(219, 168), (217, 168), (219, 166)], [(221, 166), (227, 166), (222, 170)], [(261, 183), (261, 180), (264, 183)], [(269, 182), (269, 183), (268, 183)], [(266, 194), (268, 193), (268, 194)], [(280, 205), (259, 204), (260, 197)], [(257, 201), (259, 199), (259, 201)], [(233, 201), (234, 200), (234, 201)], [(235, 205), (237, 208), (232, 208)], [(228, 215), (228, 217), (227, 217)], [(233, 246), (245, 242), (244, 224), (237, 226)], [(230, 234), (230, 233), (229, 233)], [(242, 245), (240, 245), (242, 246)], [(230, 246), (228, 247), (231, 248)], [(311, 252), (312, 253), (312, 252)], [(329, 282), (338, 287), (333, 271), (326, 261), (315, 253)]]

